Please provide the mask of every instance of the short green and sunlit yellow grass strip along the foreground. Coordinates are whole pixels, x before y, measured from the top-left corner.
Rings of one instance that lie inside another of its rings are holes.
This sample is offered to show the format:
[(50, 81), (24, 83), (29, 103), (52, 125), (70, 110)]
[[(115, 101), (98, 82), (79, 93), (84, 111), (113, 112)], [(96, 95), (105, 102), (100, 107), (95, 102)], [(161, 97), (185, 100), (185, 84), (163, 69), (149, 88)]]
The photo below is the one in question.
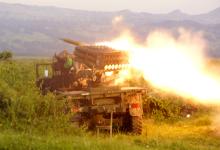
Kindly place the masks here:
[(95, 134), (80, 131), (78, 135), (60, 134), (56, 131), (37, 134), (4, 130), (0, 133), (0, 149), (82, 149), (82, 150), (218, 150), (220, 137), (216, 136), (210, 125), (197, 126), (189, 121), (175, 124), (156, 124), (145, 120), (142, 136), (115, 133), (96, 137)]

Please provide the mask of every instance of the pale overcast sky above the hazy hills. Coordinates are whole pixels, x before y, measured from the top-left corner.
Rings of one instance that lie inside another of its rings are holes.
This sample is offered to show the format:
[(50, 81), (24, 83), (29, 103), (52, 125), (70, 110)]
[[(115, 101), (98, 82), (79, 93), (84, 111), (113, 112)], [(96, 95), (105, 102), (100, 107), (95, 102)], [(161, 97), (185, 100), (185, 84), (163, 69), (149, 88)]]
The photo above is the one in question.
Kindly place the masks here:
[(130, 9), (150, 13), (167, 13), (180, 9), (190, 14), (205, 13), (220, 7), (220, 0), (0, 0), (0, 2), (52, 5), (96, 11)]

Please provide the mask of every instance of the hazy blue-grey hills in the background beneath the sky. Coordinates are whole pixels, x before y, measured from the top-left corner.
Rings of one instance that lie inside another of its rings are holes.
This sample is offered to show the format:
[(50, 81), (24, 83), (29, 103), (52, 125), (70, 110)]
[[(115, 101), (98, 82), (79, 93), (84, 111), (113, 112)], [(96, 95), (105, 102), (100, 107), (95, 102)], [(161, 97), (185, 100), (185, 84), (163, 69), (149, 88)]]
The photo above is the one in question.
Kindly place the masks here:
[(161, 27), (173, 31), (179, 27), (203, 31), (209, 42), (208, 54), (220, 56), (220, 8), (189, 15), (180, 10), (167, 14), (129, 10), (96, 12), (0, 3), (0, 49), (9, 49), (21, 56), (49, 56), (72, 48), (59, 40), (63, 37), (85, 42), (110, 39), (119, 32), (112, 25), (112, 19), (119, 15), (140, 39)]

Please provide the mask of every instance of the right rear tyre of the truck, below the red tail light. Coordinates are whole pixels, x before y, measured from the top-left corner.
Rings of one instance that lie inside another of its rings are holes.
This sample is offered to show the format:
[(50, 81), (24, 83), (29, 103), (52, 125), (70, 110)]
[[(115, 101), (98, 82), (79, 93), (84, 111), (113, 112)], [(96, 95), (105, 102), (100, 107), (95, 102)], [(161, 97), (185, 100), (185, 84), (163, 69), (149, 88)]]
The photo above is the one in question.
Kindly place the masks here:
[(141, 135), (142, 134), (142, 116), (132, 116), (131, 117), (131, 126), (132, 133)]

